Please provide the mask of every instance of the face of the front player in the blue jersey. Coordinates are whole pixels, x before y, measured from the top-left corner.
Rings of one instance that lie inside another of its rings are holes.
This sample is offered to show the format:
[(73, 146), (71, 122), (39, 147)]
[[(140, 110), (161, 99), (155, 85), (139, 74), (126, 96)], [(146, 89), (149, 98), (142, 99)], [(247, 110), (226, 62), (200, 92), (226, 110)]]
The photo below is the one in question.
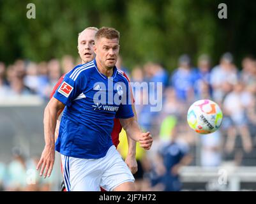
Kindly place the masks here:
[(94, 52), (103, 67), (113, 68), (119, 54), (119, 40), (100, 38), (94, 46)]

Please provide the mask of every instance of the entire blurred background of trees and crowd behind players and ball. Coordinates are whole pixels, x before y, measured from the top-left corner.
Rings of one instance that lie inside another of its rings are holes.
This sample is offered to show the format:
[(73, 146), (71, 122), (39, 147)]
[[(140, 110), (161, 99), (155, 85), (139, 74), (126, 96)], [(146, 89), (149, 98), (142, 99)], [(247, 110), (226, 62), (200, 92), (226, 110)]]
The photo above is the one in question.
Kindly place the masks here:
[[(220, 3), (227, 18), (218, 17)], [(0, 191), (59, 191), (57, 152), (50, 178), (35, 170), (43, 110), (61, 75), (80, 64), (77, 36), (91, 26), (121, 33), (117, 67), (131, 82), (163, 84), (160, 112), (140, 103), (150, 91), (133, 90), (139, 124), (154, 138), (151, 150), (137, 148), (137, 190), (255, 191), (255, 13), (256, 1), (0, 0)], [(205, 98), (224, 118), (215, 133), (198, 135), (186, 113)], [(125, 159), (124, 131), (120, 140)]]

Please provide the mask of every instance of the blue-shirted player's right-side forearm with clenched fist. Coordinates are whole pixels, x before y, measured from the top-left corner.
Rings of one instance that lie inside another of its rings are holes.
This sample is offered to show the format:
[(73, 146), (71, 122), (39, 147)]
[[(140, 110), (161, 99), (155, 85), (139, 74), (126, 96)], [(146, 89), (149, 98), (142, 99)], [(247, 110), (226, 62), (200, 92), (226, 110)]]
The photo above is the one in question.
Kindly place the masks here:
[(119, 119), (121, 125), (126, 131), (126, 135), (128, 135), (133, 140), (140, 143), (140, 147), (149, 150), (153, 143), (153, 138), (149, 132), (143, 133), (139, 127), (139, 124), (135, 117), (130, 117), (128, 119)]

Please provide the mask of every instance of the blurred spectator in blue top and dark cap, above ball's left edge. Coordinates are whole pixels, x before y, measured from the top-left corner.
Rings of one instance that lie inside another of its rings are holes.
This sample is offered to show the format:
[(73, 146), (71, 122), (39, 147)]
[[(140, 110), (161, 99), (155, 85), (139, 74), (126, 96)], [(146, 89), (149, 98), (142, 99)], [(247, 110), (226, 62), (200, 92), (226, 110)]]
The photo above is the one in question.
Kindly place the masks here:
[(179, 67), (174, 70), (170, 77), (170, 84), (174, 87), (177, 98), (183, 101), (193, 100), (193, 85), (195, 76), (193, 75), (190, 57), (181, 55), (179, 57)]

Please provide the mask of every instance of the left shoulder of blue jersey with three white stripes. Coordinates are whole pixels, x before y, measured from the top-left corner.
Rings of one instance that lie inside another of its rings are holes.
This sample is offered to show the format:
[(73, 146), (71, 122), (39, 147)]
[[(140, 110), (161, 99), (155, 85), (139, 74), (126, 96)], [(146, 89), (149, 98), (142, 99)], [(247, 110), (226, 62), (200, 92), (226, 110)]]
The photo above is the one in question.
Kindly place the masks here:
[(87, 62), (86, 64), (79, 64), (75, 66), (66, 76), (70, 77), (72, 80), (77, 80), (80, 76), (90, 75), (91, 71), (94, 69), (94, 61)]

